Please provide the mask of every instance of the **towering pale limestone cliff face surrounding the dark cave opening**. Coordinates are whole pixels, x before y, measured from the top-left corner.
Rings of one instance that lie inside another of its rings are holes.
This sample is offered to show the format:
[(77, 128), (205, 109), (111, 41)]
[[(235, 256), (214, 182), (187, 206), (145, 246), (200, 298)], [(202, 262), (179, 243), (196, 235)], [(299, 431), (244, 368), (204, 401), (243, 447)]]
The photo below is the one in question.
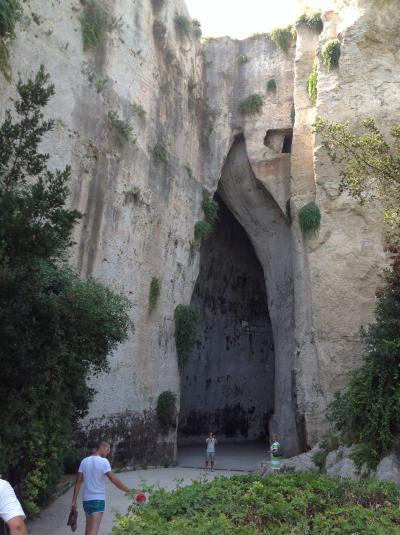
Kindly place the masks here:
[[(154, 408), (162, 391), (180, 393), (173, 312), (191, 301), (206, 261), (193, 244), (203, 188), (218, 191), (262, 268), (275, 356), (269, 426), (289, 454), (318, 439), (326, 403), (360, 363), (359, 328), (372, 318), (384, 254), (379, 207), (338, 194), (339, 170), (312, 123), (316, 114), (356, 127), (365, 115), (384, 129), (396, 120), (395, 3), (377, 11), (372, 0), (345, 2), (324, 15), (321, 35), (298, 28), (287, 52), (265, 36), (201, 45), (192, 33), (180, 35), (174, 17), (188, 16), (183, 0), (158, 8), (151, 0), (104, 2), (107, 37), (84, 52), (78, 0), (24, 3), (11, 63), (14, 79), (44, 63), (56, 86), (47, 110), (56, 130), (44, 150), (52, 165), (72, 164), (71, 204), (84, 217), (71, 262), (127, 295), (136, 327), (111, 372), (94, 380), (83, 440), (109, 436), (126, 463), (174, 459), (175, 433), (159, 432)], [(155, 20), (165, 35), (154, 31)], [(336, 37), (340, 66), (328, 72), (321, 46)], [(315, 58), (316, 107), (306, 92)], [(267, 89), (272, 79), (276, 91)], [(0, 87), (4, 108), (14, 86), (1, 79)], [(240, 114), (239, 102), (254, 93), (265, 97), (261, 112)], [(118, 139), (109, 112), (131, 125), (135, 142)], [(156, 147), (165, 158), (155, 157)], [(297, 211), (310, 200), (322, 226), (304, 239)], [(152, 277), (162, 290), (150, 315)]]

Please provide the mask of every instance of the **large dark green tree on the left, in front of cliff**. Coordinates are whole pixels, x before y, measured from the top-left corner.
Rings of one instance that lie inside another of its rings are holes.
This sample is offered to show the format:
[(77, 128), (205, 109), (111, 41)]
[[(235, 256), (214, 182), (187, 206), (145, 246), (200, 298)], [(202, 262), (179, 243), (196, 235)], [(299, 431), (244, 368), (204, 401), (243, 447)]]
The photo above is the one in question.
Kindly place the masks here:
[(50, 171), (38, 152), (54, 86), (41, 67), (17, 90), (0, 125), (0, 473), (34, 513), (93, 397), (87, 378), (107, 370), (131, 324), (124, 298), (65, 261), (81, 217), (65, 208), (71, 171)]

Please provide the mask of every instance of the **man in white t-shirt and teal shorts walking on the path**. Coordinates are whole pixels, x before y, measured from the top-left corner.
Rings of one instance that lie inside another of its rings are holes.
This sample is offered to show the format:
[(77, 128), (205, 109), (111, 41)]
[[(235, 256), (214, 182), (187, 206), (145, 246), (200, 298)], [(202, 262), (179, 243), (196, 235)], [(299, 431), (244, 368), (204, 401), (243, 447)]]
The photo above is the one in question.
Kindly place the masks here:
[(111, 471), (111, 465), (106, 459), (110, 453), (110, 444), (100, 442), (93, 455), (82, 460), (76, 477), (72, 507), (76, 508), (79, 491), (82, 483), (83, 510), (86, 514), (85, 535), (97, 535), (106, 505), (106, 480), (105, 477), (123, 492), (131, 492), (122, 481)]

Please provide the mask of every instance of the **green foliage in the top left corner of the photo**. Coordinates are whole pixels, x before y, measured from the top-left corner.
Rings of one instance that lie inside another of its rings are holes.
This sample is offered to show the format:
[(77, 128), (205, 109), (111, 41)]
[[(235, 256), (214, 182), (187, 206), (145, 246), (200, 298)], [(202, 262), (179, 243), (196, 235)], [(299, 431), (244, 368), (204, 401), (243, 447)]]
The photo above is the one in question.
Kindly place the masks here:
[(15, 37), (15, 25), (22, 15), (19, 0), (0, 0), (0, 71), (11, 80), (8, 46)]

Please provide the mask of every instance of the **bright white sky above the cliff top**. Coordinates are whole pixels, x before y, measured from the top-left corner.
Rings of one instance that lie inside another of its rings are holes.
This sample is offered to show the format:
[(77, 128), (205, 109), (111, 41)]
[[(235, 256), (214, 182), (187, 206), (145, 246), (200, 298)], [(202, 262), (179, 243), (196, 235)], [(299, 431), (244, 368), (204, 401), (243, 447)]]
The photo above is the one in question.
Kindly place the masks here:
[(304, 0), (186, 0), (192, 18), (201, 22), (204, 37), (238, 39), (287, 26), (303, 12), (304, 4)]

